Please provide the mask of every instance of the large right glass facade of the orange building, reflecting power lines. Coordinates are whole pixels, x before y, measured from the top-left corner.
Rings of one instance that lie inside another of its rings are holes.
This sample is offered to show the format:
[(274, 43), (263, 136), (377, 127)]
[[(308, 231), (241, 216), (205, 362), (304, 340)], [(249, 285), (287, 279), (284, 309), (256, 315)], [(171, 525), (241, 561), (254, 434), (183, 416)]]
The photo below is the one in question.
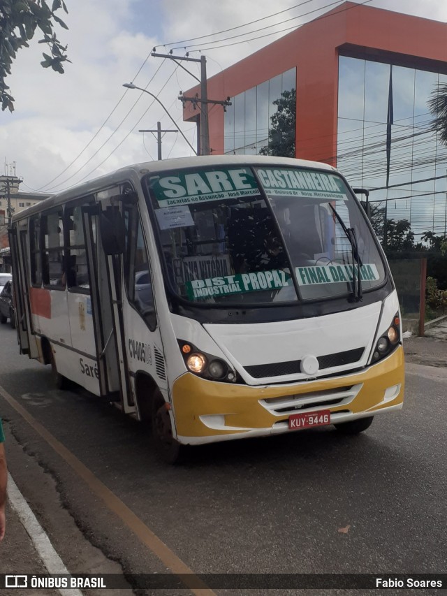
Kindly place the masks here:
[(337, 168), (387, 219), (408, 219), (415, 242), (447, 231), (447, 148), (427, 101), (447, 75), (339, 57)]

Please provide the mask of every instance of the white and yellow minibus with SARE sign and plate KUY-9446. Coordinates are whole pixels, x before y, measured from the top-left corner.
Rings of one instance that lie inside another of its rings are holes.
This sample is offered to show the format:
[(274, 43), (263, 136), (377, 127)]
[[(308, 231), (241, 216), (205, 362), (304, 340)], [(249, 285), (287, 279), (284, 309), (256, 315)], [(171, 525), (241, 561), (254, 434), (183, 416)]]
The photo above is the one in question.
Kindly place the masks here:
[(117, 170), (13, 217), (20, 349), (185, 445), (402, 407), (393, 279), (324, 163), (193, 157)]

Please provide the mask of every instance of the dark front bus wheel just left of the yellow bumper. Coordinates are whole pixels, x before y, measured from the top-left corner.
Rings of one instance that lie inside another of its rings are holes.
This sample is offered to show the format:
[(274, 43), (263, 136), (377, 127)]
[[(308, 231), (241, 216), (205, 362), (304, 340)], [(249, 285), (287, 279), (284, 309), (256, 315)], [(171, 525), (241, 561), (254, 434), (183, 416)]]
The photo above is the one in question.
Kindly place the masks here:
[(173, 437), (168, 404), (159, 391), (152, 401), (152, 437), (156, 452), (166, 463), (180, 463), (184, 458), (185, 446)]

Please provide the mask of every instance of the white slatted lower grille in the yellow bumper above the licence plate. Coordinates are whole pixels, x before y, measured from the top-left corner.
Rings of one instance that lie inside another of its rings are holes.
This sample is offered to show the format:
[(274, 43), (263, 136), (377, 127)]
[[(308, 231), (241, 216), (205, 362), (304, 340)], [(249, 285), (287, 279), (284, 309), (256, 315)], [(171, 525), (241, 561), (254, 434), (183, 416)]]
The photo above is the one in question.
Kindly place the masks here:
[(347, 405), (356, 398), (362, 383), (328, 389), (326, 391), (309, 391), (298, 395), (284, 395), (281, 398), (259, 400), (274, 416), (290, 416), (298, 412), (312, 412), (315, 409)]

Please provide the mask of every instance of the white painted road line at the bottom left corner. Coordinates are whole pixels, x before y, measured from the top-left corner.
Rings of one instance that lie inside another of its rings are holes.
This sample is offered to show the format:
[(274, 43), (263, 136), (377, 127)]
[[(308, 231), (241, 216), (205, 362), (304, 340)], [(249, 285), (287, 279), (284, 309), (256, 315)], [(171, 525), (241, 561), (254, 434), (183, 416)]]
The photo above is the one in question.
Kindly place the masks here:
[[(10, 474), (8, 474), (8, 498), (11, 507), (13, 507), (19, 516), (25, 530), (27, 530), (31, 541), (34, 544), (34, 548), (36, 548), (48, 573), (68, 575), (69, 572), (64, 565), (64, 562), (62, 562), (61, 558), (54, 550), (50, 539), (45, 534), (45, 530), (43, 530), (41, 524), (38, 523), (36, 516), (29, 508), (29, 504), (24, 500), (24, 496), (20, 493), (17, 484), (15, 484)], [(82, 592), (77, 588), (54, 589), (57, 589), (61, 596), (82, 596)]]

